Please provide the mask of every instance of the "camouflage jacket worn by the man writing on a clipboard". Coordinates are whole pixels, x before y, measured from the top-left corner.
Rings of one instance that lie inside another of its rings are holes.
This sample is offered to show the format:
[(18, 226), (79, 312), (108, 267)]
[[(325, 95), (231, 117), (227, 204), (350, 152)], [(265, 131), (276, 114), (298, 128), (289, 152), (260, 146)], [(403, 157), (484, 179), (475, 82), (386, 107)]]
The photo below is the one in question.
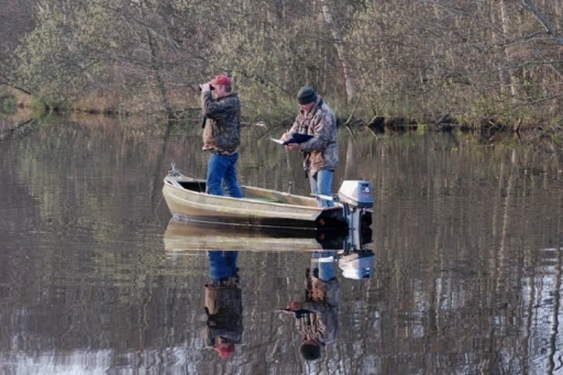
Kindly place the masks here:
[(336, 117), (318, 96), (311, 112), (299, 111), (289, 133), (306, 133), (313, 137), (299, 145), (303, 153), (303, 168), (314, 175), (320, 169), (334, 170), (339, 164)]

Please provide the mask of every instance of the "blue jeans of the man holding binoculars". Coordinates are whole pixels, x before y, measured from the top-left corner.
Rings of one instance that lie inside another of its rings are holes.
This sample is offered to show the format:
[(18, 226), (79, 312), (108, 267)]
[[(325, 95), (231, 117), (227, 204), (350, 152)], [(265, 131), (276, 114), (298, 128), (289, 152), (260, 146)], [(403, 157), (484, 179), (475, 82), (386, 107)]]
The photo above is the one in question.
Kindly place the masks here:
[(207, 165), (207, 192), (213, 196), (223, 195), (223, 181), (229, 196), (242, 198), (241, 188), (236, 183), (236, 161), (239, 153), (220, 155), (212, 153)]

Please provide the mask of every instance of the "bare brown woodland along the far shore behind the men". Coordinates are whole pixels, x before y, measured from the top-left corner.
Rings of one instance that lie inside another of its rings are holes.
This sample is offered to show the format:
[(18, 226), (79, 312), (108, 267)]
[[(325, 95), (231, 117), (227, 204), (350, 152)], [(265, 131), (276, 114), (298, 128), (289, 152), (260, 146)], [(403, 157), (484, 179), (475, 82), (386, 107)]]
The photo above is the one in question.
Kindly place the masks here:
[(346, 123), (563, 134), (563, 2), (3, 0), (3, 111), (200, 118), (233, 77), (245, 121), (284, 123), (312, 86)]

